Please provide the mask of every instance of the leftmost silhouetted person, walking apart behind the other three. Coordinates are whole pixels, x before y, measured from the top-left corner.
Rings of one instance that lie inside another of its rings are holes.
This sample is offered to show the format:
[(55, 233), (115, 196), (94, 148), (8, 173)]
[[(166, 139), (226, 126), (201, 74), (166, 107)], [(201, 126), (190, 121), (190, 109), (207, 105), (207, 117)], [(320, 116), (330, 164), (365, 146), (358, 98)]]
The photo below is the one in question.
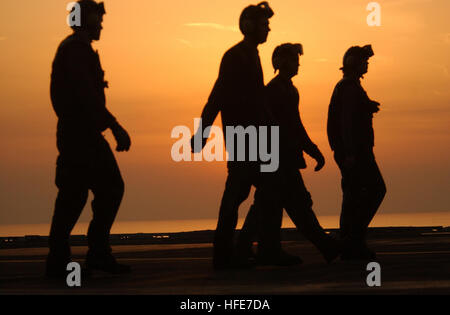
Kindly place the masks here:
[(128, 151), (128, 133), (105, 107), (104, 72), (97, 52), (91, 47), (100, 39), (105, 14), (103, 3), (78, 2), (81, 26), (62, 41), (53, 61), (51, 99), (58, 116), (56, 167), (58, 196), (49, 236), (46, 274), (61, 277), (70, 261), (69, 236), (88, 197), (93, 219), (88, 230), (86, 268), (126, 273), (129, 266), (116, 262), (111, 254), (109, 234), (124, 193), (119, 167), (102, 132), (111, 129), (116, 150)]

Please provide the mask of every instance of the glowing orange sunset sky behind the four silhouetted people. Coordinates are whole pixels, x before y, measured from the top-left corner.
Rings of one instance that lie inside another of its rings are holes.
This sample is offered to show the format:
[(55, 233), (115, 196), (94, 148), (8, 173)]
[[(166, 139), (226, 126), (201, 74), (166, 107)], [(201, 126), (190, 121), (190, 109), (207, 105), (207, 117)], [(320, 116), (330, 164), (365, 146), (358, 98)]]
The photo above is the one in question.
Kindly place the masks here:
[[(57, 151), (50, 67), (70, 33), (68, 2), (0, 3), (0, 224), (51, 218)], [(382, 103), (376, 155), (388, 187), (380, 212), (450, 211), (450, 2), (378, 2), (381, 26), (369, 27), (369, 1), (270, 1), (272, 32), (259, 49), (266, 83), (273, 76), (274, 47), (304, 45), (294, 83), (304, 124), (327, 159), (320, 173), (304, 172), (318, 215), (339, 214), (341, 201), (325, 129), (338, 68), (349, 46), (369, 43), (375, 56), (363, 86)], [(117, 154), (126, 181), (118, 220), (216, 218), (225, 162), (173, 162), (170, 132), (176, 125), (193, 127), (223, 53), (241, 39), (239, 14), (253, 2), (105, 3), (102, 39), (94, 47), (110, 83), (107, 106), (133, 139), (131, 152)], [(82, 220), (89, 217), (85, 211)]]

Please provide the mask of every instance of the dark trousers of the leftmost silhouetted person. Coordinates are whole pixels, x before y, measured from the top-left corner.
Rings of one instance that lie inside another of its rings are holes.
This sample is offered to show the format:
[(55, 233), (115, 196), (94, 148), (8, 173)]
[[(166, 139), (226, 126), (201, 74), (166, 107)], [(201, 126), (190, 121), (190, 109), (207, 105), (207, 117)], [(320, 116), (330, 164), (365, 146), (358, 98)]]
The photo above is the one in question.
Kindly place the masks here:
[(109, 234), (122, 201), (124, 182), (108, 142), (101, 137), (76, 157), (60, 151), (55, 184), (58, 195), (49, 235), (50, 253), (61, 259), (70, 256), (69, 236), (89, 190), (94, 194), (93, 217), (87, 234), (89, 252), (110, 253)]

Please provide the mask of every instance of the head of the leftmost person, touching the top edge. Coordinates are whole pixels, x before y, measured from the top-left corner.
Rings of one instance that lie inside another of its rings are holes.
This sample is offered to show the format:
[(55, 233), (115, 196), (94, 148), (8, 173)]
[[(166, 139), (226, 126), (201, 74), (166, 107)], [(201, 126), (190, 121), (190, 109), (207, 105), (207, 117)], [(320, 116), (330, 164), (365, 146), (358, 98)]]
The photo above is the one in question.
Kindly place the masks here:
[(106, 13), (103, 2), (80, 0), (77, 3), (81, 10), (81, 26), (74, 25), (72, 29), (75, 32), (86, 32), (90, 40), (99, 40), (103, 28), (103, 15)]

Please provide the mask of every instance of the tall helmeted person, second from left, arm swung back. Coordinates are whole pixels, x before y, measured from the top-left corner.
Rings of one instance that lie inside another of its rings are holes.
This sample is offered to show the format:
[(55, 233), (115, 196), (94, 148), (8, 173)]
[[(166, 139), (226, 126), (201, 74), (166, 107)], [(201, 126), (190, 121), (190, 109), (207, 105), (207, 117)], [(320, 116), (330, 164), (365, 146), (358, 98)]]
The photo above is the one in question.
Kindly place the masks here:
[[(270, 31), (269, 19), (273, 15), (267, 2), (250, 5), (242, 11), (239, 28), (244, 39), (222, 58), (219, 76), (202, 111), (203, 128), (199, 128), (191, 140), (193, 152), (202, 150), (206, 143), (204, 129), (213, 124), (219, 112), (225, 139), (227, 126), (268, 125), (270, 118), (264, 108), (264, 78), (257, 47), (266, 42)], [(201, 139), (198, 143), (202, 143), (202, 147), (195, 146), (197, 138)], [(226, 149), (237, 152), (237, 146)], [(233, 239), (239, 205), (248, 198), (252, 185), (258, 185), (261, 178), (258, 162), (229, 160), (227, 168), (228, 177), (214, 235), (213, 267), (216, 270), (249, 267), (246, 262), (241, 264), (234, 259)]]

